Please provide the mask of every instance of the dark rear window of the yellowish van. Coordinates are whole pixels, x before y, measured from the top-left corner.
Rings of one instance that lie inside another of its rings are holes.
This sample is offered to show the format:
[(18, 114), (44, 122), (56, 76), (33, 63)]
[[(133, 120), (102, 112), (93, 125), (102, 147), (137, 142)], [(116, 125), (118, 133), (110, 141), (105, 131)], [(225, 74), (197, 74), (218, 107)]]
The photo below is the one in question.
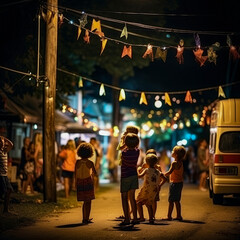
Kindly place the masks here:
[(240, 153), (240, 131), (223, 133), (219, 141), (219, 150), (225, 153)]

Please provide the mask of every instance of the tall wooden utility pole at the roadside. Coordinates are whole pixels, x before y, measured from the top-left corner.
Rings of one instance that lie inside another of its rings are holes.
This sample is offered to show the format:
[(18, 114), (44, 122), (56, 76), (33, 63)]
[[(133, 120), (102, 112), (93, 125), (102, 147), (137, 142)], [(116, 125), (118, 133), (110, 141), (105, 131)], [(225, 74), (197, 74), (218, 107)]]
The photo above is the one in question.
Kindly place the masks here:
[(55, 100), (58, 0), (47, 0), (43, 119), (44, 201), (56, 202)]

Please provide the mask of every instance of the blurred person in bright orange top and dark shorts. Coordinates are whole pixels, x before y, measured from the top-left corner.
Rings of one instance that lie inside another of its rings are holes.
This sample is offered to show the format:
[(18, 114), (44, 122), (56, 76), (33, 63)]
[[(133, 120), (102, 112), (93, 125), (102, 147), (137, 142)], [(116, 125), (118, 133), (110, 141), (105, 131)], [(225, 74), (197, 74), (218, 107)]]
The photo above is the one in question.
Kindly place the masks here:
[(76, 147), (74, 140), (68, 140), (66, 147), (59, 153), (59, 157), (63, 159), (62, 177), (64, 179), (65, 196), (68, 198), (72, 187), (76, 164)]

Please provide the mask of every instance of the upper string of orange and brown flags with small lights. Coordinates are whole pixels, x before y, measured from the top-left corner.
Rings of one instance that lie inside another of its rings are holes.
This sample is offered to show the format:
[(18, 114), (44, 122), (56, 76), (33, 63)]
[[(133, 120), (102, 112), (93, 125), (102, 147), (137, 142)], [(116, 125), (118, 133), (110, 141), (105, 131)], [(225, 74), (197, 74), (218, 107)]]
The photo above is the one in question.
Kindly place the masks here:
[[(50, 10), (48, 10), (49, 12)], [(46, 21), (50, 21), (52, 19), (51, 15), (55, 14), (54, 12), (50, 11), (50, 14), (47, 14), (48, 19), (46, 19), (46, 14), (43, 13), (42, 11), (42, 16), (44, 16), (43, 18)], [(168, 48), (173, 48), (172, 46), (170, 47), (160, 47), (160, 46), (153, 46), (151, 44), (146, 45), (139, 45), (139, 44), (130, 44), (127, 42), (123, 42), (117, 39), (112, 39), (109, 37), (106, 37), (104, 35), (104, 33), (102, 32), (102, 28), (101, 28), (101, 20), (95, 20), (93, 18), (92, 20), (92, 24), (91, 24), (91, 30), (85, 28), (86, 24), (88, 23), (87, 21), (87, 14), (84, 13), (82, 15), (82, 17), (79, 19), (79, 24), (74, 23), (73, 21), (69, 20), (68, 18), (66, 18), (65, 16), (63, 16), (63, 14), (59, 14), (59, 27), (63, 24), (64, 20), (66, 20), (68, 23), (75, 25), (76, 27), (78, 27), (78, 33), (77, 33), (77, 40), (79, 39), (82, 29), (85, 30), (85, 35), (83, 36), (83, 39), (85, 41), (85, 43), (90, 44), (90, 34), (95, 34), (98, 35), (100, 37), (100, 40), (102, 42), (102, 47), (101, 47), (101, 51), (100, 51), (100, 55), (102, 55), (107, 41), (111, 40), (117, 43), (122, 43), (123, 46), (123, 50), (122, 50), (122, 54), (121, 54), (121, 58), (128, 56), (130, 59), (132, 59), (132, 55), (133, 55), (133, 49), (132, 46), (141, 46), (141, 47), (146, 47), (146, 51), (144, 52), (144, 54), (142, 55), (143, 58), (149, 57), (151, 59), (151, 61), (154, 61), (155, 59), (162, 59), (163, 62), (166, 62), (166, 58), (167, 58), (167, 49)], [(128, 39), (128, 30), (127, 30), (127, 24), (125, 23), (122, 32), (120, 34), (120, 38), (125, 37), (126, 40)], [(204, 66), (206, 61), (209, 61), (210, 63), (214, 63), (216, 65), (217, 63), (217, 57), (218, 55), (216, 54), (216, 51), (220, 48), (220, 43), (216, 42), (214, 44), (212, 44), (211, 46), (208, 46), (208, 50), (207, 50), (207, 55), (203, 56), (203, 52), (204, 50), (201, 48), (201, 43), (200, 43), (200, 37), (197, 33), (194, 33), (194, 38), (195, 38), (195, 42), (196, 42), (196, 46), (194, 47), (195, 49), (193, 50), (193, 54), (195, 56), (196, 61), (199, 63), (200, 67)], [(229, 57), (233, 60), (239, 59), (240, 58), (240, 47), (237, 46), (233, 46), (232, 45), (232, 41), (229, 35), (227, 35), (227, 41), (226, 41), (228, 47), (229, 47)], [(153, 48), (156, 48), (156, 52), (155, 52), (155, 56), (153, 53)], [(183, 52), (184, 49), (186, 47), (184, 47), (184, 40), (180, 39), (179, 44), (176, 48), (176, 58), (177, 61), (179, 62), (179, 64), (183, 64), (184, 63), (184, 58), (183, 58)], [(193, 47), (188, 47), (188, 48), (193, 48)], [(206, 48), (206, 47), (205, 47)]]

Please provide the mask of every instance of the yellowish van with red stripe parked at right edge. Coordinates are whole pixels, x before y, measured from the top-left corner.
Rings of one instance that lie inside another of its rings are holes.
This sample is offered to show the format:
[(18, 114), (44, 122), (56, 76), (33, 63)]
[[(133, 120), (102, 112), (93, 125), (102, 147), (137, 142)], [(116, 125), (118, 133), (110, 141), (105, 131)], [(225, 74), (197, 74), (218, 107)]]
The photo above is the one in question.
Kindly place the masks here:
[(240, 195), (240, 99), (219, 100), (211, 114), (209, 193), (214, 204)]

